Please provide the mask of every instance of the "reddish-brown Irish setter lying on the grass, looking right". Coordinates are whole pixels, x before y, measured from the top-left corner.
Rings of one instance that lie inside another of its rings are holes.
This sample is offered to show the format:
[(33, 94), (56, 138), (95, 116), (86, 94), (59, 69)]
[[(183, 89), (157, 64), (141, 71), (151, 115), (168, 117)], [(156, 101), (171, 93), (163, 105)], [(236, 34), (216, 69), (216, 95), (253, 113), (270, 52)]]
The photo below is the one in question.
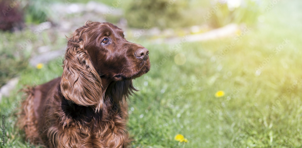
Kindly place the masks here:
[(125, 147), (132, 79), (149, 51), (110, 23), (86, 22), (68, 38), (62, 77), (28, 91), (19, 118), (26, 138), (47, 147)]

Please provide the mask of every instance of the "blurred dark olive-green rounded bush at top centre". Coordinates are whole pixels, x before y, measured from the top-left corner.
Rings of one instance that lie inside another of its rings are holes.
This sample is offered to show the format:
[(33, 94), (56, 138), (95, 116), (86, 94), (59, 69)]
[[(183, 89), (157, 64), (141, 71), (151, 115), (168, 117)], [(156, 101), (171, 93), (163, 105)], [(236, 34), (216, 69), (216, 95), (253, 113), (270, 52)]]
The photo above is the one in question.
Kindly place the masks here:
[(133, 0), (125, 8), (125, 18), (129, 27), (144, 28), (151, 24), (159, 28), (186, 26), (186, 17), (182, 12), (187, 1)]

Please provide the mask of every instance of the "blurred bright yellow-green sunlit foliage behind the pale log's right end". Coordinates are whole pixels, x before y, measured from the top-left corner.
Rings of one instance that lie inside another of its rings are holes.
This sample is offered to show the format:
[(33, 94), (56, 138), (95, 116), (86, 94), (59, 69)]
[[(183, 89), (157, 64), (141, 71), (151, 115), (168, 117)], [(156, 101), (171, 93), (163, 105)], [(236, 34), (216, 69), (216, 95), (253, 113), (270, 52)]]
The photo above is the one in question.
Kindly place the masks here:
[(253, 24), (261, 14), (259, 3), (255, 0), (241, 0), (235, 4), (217, 2), (207, 11), (204, 19), (209, 19), (214, 27), (223, 27), (230, 23)]

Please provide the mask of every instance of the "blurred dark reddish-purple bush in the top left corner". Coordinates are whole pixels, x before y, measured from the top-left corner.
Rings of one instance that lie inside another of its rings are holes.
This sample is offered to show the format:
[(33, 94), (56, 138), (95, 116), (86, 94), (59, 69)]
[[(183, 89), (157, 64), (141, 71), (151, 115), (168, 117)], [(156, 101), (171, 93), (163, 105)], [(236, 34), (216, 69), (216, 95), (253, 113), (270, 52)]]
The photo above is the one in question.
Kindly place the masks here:
[(0, 0), (0, 30), (13, 31), (14, 27), (21, 28), (23, 24), (23, 10), (18, 1)]

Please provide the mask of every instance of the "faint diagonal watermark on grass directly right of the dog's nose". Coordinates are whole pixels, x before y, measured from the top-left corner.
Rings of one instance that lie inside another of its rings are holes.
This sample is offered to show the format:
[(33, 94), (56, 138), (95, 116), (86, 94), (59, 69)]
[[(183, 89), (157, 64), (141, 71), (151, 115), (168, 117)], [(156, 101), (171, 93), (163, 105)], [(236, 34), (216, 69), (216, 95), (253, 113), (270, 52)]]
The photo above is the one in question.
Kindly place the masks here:
[(162, 65), (164, 65), (165, 62), (169, 60), (169, 58), (171, 58), (172, 54), (174, 52), (177, 52), (187, 41), (188, 41), (188, 36), (183, 36), (178, 43), (173, 45), (172, 47), (173, 50), (167, 53), (166, 55), (164, 55), (164, 58), (162, 58), (162, 60), (160, 60), (158, 64), (154, 65), (154, 68), (157, 70), (158, 68), (162, 67)]

